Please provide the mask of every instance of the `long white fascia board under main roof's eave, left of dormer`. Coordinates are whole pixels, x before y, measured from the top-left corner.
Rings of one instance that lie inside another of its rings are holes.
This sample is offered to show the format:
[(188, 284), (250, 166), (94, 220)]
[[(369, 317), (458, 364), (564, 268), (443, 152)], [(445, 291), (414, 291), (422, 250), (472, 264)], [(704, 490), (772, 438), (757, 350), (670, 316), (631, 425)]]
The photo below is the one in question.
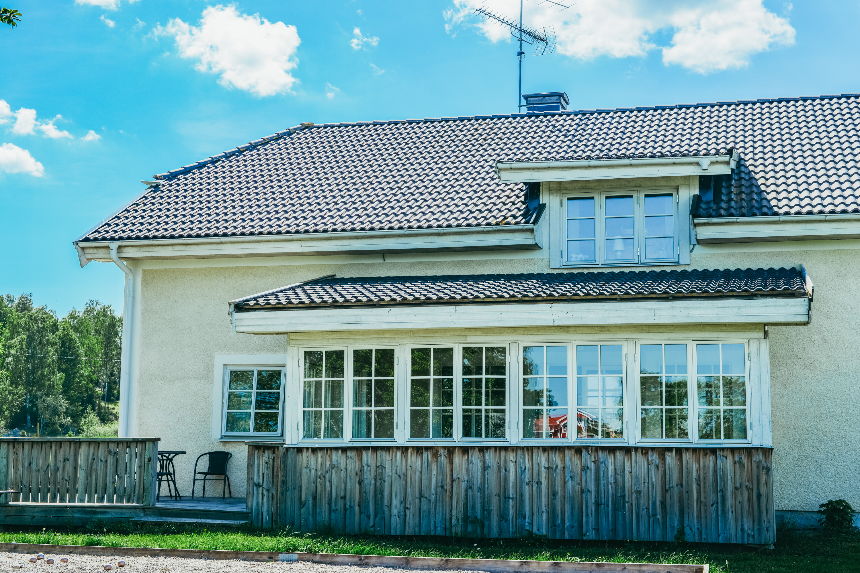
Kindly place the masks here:
[[(218, 259), (290, 255), (443, 253), (539, 249), (535, 225), (458, 229), (406, 229), (314, 235), (204, 237), (116, 241), (123, 259)], [(79, 242), (83, 258), (110, 260), (108, 242)]]

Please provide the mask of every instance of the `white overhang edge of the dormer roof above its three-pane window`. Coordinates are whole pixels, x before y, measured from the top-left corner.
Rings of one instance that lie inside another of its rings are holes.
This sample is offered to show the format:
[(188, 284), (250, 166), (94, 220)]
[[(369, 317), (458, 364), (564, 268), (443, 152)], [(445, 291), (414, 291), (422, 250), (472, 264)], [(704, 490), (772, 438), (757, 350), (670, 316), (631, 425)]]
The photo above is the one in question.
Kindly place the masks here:
[(565, 162), (496, 162), (502, 183), (630, 179), (730, 174), (738, 154), (647, 159), (593, 159)]

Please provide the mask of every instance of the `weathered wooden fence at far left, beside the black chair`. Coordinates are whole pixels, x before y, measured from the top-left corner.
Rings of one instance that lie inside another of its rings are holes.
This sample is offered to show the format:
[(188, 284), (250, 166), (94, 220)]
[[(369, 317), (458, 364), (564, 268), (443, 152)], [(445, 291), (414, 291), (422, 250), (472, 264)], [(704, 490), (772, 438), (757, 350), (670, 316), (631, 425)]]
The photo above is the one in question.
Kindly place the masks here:
[[(158, 438), (0, 438), (0, 504), (155, 505)], [(11, 499), (9, 499), (11, 497)]]

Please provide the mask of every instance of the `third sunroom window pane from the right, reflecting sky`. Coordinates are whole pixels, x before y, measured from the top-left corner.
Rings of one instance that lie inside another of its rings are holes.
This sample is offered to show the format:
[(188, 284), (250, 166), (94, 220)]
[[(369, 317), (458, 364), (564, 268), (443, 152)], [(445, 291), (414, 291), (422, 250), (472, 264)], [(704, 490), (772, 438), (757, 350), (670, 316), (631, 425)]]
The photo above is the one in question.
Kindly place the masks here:
[(577, 437), (624, 437), (624, 346), (576, 346)]

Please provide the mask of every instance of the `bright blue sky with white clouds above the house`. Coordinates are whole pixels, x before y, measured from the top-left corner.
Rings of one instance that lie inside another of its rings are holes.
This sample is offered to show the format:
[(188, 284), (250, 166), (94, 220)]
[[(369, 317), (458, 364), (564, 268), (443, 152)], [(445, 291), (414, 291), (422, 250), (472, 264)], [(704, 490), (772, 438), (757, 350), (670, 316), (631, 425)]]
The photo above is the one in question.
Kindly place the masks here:
[[(0, 294), (58, 314), (122, 308), (122, 272), (71, 241), (152, 174), (303, 121), (516, 111), (516, 48), (469, 10), (517, 0), (8, 3)], [(575, 109), (860, 92), (857, 1), (525, 0), (525, 20), (558, 51), (525, 57), (524, 91)]]

